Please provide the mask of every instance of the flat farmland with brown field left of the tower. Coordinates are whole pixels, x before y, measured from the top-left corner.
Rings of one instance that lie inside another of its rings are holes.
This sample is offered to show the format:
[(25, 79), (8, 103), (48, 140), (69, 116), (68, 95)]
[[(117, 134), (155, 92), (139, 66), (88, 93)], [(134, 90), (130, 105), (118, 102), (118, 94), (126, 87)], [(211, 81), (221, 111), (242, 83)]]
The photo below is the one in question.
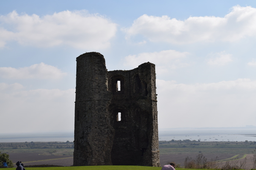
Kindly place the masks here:
[(9, 154), (15, 164), (22, 161), (28, 165), (73, 165), (73, 142), (12, 142), (0, 143), (0, 152)]

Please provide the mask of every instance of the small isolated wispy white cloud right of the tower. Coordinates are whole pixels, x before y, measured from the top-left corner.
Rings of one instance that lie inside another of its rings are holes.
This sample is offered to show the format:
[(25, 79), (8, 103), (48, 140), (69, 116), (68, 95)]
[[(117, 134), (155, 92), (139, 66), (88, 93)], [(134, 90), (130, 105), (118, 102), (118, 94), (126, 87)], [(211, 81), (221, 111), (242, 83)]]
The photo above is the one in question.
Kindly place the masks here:
[(232, 62), (232, 54), (227, 54), (225, 51), (221, 51), (220, 53), (208, 54), (207, 64), (209, 65), (227, 65), (229, 62)]

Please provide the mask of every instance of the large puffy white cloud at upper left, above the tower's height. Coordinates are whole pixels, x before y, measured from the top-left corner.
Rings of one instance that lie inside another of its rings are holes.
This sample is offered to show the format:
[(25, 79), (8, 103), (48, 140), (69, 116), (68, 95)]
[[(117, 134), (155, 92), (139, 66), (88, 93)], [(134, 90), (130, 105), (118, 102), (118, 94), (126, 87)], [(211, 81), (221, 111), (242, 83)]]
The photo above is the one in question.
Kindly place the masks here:
[(22, 45), (52, 47), (69, 45), (81, 49), (110, 46), (116, 34), (115, 23), (86, 11), (62, 11), (40, 17), (13, 11), (0, 16), (0, 47), (15, 40)]

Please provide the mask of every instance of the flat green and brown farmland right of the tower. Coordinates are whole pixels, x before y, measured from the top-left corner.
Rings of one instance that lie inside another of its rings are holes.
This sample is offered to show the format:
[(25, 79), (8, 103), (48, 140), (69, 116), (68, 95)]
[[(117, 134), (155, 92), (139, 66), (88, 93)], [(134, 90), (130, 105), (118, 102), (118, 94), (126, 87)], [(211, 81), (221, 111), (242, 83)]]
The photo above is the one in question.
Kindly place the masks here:
[(160, 164), (175, 161), (184, 166), (186, 157), (196, 160), (199, 154), (210, 161), (218, 161), (221, 166), (227, 161), (241, 164), (246, 158), (246, 169), (252, 169), (252, 152), (256, 153), (256, 142), (200, 142), (200, 141), (159, 141)]

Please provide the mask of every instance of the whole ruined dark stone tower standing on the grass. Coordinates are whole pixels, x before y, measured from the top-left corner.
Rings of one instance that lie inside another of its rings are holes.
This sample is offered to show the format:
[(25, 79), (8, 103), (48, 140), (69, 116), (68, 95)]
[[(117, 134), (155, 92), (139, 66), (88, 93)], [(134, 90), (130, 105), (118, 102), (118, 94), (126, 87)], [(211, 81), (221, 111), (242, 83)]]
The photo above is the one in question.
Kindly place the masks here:
[(77, 57), (74, 166), (160, 166), (155, 65), (107, 71), (96, 52)]

